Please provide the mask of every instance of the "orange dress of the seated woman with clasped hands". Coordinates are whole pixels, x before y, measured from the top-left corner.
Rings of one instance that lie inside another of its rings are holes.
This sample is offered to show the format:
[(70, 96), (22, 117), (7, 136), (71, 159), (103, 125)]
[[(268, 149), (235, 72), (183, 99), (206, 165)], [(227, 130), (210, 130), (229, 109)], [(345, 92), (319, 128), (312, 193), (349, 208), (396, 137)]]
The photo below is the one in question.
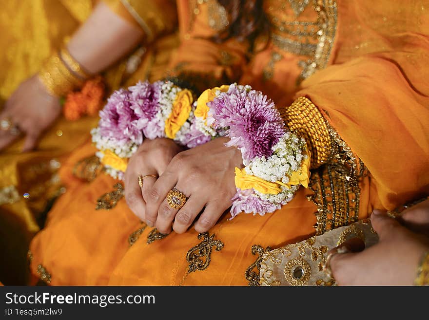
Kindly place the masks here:
[[(324, 195), (324, 204), (331, 203), (332, 207), (326, 205), (329, 210), (309, 201), (317, 200), (315, 188), (301, 188), (274, 213), (239, 214), (231, 221), (225, 214), (209, 231), (213, 238), (198, 237), (191, 228), (154, 240), (153, 228), (142, 224), (124, 199), (108, 211), (95, 210), (98, 197), (111, 191), (116, 181), (99, 175), (87, 184), (71, 174), (80, 158), (94, 154), (88, 143), (61, 168), (67, 192), (31, 244), (36, 277), (49, 273), (52, 285), (247, 285), (257, 259), (253, 245), (275, 248), (309, 238), (320, 215), (337, 215), (340, 206), (350, 206), (349, 200), (355, 204), (356, 218), (363, 219), (373, 208), (393, 209), (429, 194), (425, 1), (326, 0), (318, 1), (324, 4), (319, 11), (300, 1), (264, 1), (273, 22), (272, 38), (250, 59), (244, 43), (211, 40), (218, 32), (211, 30), (216, 25), (211, 12), (222, 12), (216, 3), (177, 2), (182, 54), (173, 59), (172, 72), (205, 72), (251, 84), (272, 96), (279, 107), (299, 96), (310, 98), (368, 173), (355, 172), (358, 187), (354, 193), (345, 189), (347, 200), (334, 204), (338, 194), (333, 190), (338, 186), (322, 176), (337, 173), (329, 164), (313, 170), (312, 179), (320, 177), (314, 179), (319, 186), (332, 187)], [(322, 26), (317, 24), (320, 19), (325, 22)], [(233, 58), (222, 60), (226, 56)], [(175, 68), (177, 64), (180, 68)], [(340, 178), (338, 184), (350, 176)], [(200, 257), (205, 265), (193, 271), (192, 254), (199, 248), (208, 254)]]

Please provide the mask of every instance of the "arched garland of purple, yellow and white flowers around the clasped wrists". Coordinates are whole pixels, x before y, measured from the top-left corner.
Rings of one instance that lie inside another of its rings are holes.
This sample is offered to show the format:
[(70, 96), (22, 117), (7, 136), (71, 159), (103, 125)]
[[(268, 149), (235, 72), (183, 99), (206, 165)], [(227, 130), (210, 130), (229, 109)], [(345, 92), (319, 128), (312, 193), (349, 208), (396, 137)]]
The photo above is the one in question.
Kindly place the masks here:
[(244, 164), (235, 168), (232, 218), (273, 212), (299, 185), (308, 187), (305, 140), (287, 131), (273, 101), (250, 86), (208, 89), (195, 101), (172, 82), (138, 82), (110, 96), (91, 133), (107, 172), (119, 179), (144, 137), (167, 137), (188, 148), (229, 137), (226, 146), (238, 148)]

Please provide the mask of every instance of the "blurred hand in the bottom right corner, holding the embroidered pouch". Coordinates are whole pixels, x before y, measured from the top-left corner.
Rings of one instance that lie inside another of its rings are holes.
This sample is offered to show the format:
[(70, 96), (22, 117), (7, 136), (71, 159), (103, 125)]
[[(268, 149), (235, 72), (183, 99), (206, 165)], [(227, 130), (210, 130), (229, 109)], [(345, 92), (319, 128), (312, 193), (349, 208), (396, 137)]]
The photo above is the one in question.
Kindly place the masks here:
[(331, 270), (336, 282), (339, 285), (412, 285), (420, 259), (429, 251), (429, 237), (401, 226), (379, 210), (372, 213), (371, 223), (379, 235), (379, 243), (362, 252), (332, 256)]

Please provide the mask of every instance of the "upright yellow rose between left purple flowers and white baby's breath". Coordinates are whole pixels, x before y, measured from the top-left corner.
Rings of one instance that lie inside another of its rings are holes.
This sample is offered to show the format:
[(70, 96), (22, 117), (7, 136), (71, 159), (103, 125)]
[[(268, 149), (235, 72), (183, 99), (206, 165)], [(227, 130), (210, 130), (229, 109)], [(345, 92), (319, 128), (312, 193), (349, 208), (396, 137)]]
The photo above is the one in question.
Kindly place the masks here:
[(165, 120), (165, 134), (170, 139), (176, 137), (176, 133), (189, 118), (192, 102), (192, 93), (187, 89), (180, 91), (176, 95), (173, 110), (168, 119)]

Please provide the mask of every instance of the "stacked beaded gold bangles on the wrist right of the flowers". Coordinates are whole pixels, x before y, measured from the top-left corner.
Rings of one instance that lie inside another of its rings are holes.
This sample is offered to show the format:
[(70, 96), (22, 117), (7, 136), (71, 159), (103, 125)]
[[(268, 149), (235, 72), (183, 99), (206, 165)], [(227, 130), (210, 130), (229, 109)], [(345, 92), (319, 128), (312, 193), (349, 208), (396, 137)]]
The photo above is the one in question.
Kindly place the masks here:
[(310, 99), (299, 97), (289, 107), (281, 109), (280, 114), (291, 131), (306, 139), (312, 152), (312, 168), (328, 161), (331, 135), (325, 118)]

